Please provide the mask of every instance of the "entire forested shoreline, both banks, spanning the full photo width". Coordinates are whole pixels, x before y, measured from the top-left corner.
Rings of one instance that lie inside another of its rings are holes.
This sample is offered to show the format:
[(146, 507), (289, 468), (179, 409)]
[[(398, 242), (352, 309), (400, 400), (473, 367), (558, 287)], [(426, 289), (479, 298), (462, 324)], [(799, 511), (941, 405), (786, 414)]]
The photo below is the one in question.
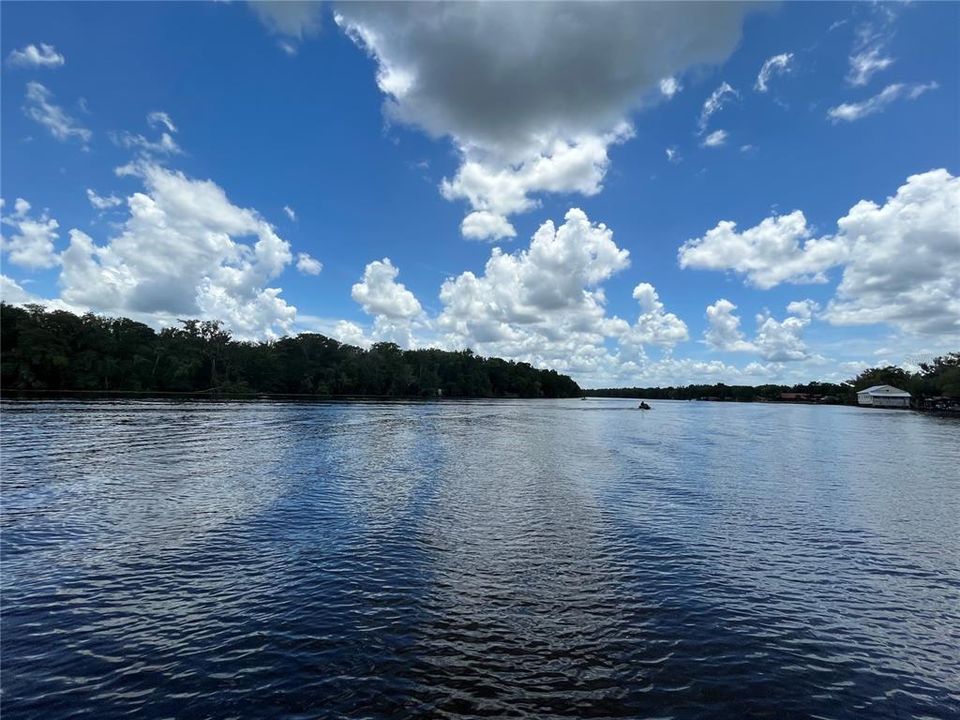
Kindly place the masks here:
[(471, 350), (369, 349), (318, 333), (234, 340), (219, 321), (181, 320), (159, 333), (129, 318), (0, 303), (0, 395), (10, 398), (371, 401), (443, 398), (702, 400), (856, 405), (857, 391), (892, 385), (915, 410), (960, 415), (960, 352), (887, 366), (844, 383), (583, 390), (569, 376)]

